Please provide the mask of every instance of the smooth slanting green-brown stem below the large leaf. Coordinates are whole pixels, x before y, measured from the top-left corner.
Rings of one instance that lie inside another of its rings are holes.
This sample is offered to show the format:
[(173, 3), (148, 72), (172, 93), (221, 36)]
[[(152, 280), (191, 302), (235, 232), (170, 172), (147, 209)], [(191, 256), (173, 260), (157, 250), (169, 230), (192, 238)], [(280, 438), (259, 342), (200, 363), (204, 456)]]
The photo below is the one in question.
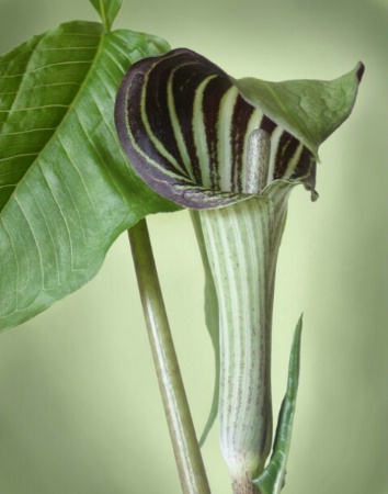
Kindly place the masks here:
[(159, 388), (183, 494), (210, 494), (145, 220), (128, 231)]

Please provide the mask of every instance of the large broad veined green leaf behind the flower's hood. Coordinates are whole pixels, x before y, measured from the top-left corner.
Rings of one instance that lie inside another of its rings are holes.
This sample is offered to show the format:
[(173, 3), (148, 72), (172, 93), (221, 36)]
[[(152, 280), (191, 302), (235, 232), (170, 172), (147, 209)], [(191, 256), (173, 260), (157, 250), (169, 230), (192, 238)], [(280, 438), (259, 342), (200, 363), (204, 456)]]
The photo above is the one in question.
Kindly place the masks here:
[(125, 228), (176, 205), (133, 172), (117, 88), (158, 37), (66, 23), (0, 58), (0, 328), (80, 288)]

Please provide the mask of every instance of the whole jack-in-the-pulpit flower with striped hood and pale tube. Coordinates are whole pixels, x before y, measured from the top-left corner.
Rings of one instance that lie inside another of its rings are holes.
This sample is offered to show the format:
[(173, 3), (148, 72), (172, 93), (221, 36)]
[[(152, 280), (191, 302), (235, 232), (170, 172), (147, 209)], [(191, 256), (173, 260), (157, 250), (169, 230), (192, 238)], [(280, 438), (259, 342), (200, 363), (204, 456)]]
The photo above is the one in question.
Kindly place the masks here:
[(287, 199), (298, 183), (317, 198), (318, 147), (350, 114), (363, 70), (324, 82), (235, 80), (175, 49), (135, 64), (117, 96), (117, 132), (137, 173), (198, 211), (219, 306), (220, 444), (236, 494), (259, 492), (252, 480), (271, 450), (272, 308)]

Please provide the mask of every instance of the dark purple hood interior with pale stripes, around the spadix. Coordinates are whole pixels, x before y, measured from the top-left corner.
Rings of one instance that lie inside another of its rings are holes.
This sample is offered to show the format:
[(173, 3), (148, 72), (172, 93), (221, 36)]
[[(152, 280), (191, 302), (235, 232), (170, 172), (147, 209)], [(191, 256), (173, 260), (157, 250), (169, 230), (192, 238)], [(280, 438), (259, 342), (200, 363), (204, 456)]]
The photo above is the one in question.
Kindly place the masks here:
[(119, 88), (115, 119), (137, 173), (182, 206), (224, 206), (278, 179), (315, 189), (310, 150), (192, 50), (134, 64)]

